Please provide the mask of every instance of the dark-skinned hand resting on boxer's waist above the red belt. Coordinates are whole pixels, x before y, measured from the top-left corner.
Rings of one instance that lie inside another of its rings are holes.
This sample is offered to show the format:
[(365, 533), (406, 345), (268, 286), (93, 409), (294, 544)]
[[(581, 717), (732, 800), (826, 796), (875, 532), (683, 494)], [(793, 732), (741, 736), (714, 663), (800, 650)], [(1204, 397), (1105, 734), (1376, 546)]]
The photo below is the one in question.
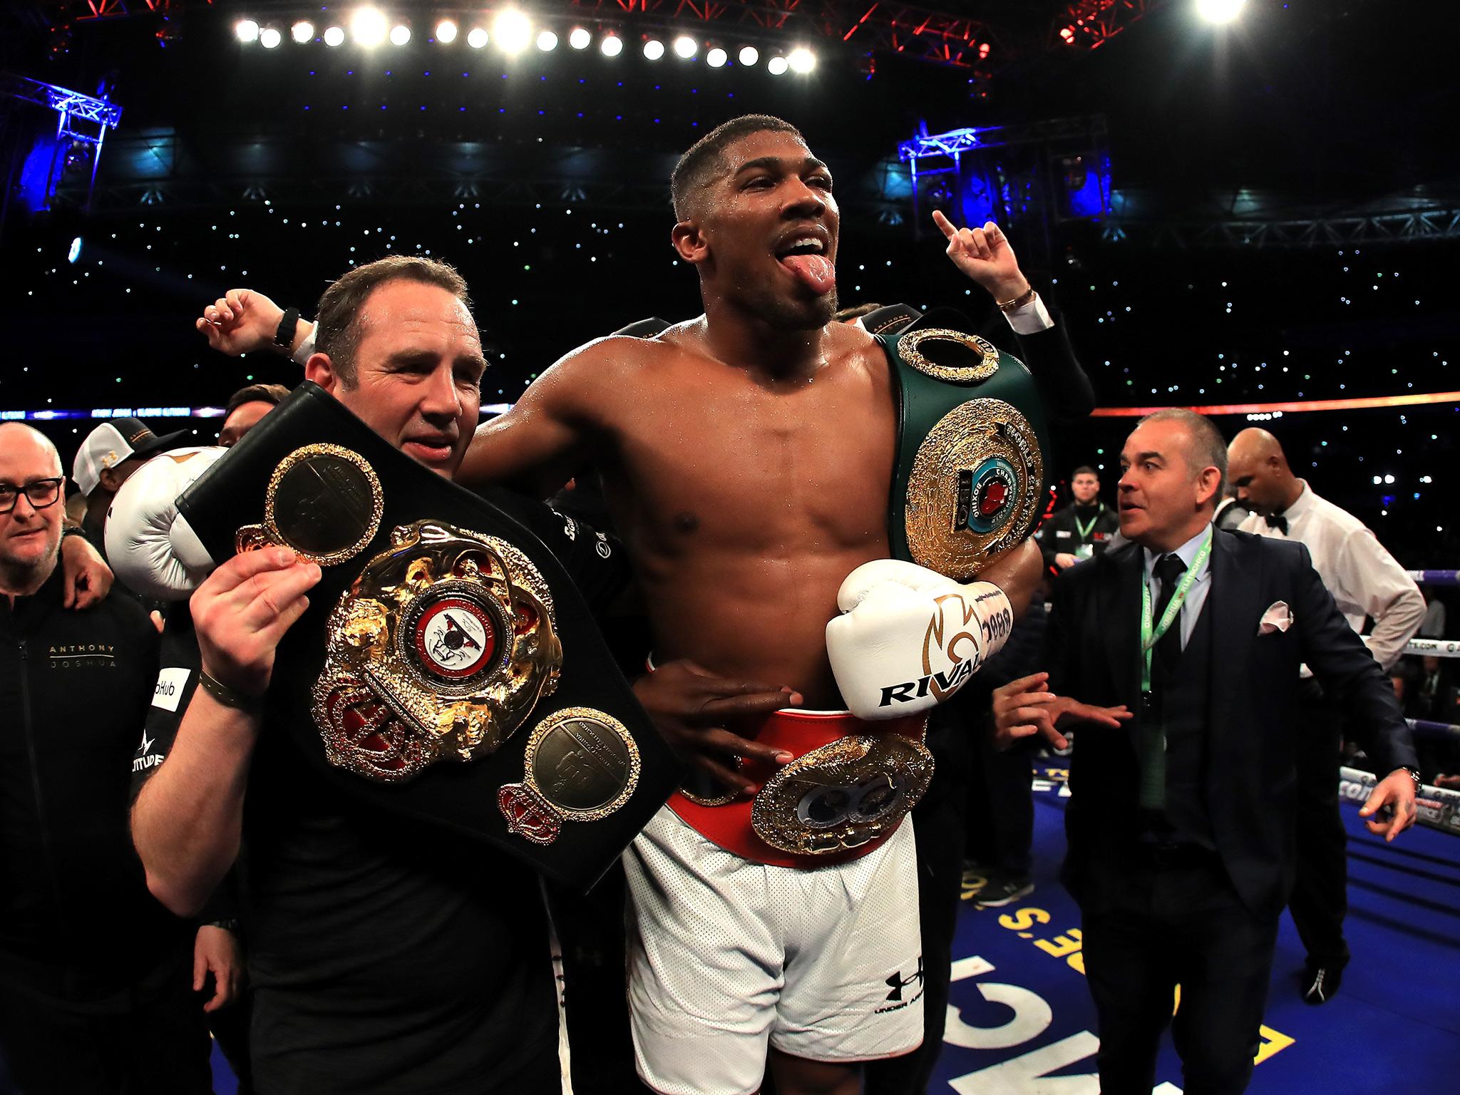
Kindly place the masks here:
[(733, 718), (768, 715), (797, 707), (802, 695), (788, 686), (718, 677), (694, 661), (669, 661), (634, 682), (634, 695), (670, 748), (686, 764), (708, 772), (726, 787), (755, 794), (759, 787), (734, 768), (745, 756), (772, 765), (790, 764), (790, 753), (758, 745), (726, 730)]

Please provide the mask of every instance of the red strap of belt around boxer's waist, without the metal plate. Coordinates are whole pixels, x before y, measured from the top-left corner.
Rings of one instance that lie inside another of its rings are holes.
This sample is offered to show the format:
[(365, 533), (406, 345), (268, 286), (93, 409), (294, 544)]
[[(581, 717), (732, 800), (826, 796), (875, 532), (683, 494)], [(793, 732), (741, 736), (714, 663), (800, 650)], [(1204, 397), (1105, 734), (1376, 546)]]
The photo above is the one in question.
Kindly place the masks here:
[[(921, 742), (926, 723), (927, 718), (924, 715), (869, 723), (857, 718), (850, 711), (799, 711), (796, 708), (783, 708), (766, 715), (758, 729), (753, 724), (739, 724), (731, 727), (731, 730), (761, 745), (784, 749), (794, 759), (848, 734), (901, 734), (914, 742)], [(740, 765), (740, 772), (748, 780), (764, 785), (766, 780), (775, 775), (777, 768), (778, 765), (765, 761), (746, 759)], [(835, 863), (848, 863), (876, 851), (892, 837), (888, 832), (857, 848), (826, 856), (800, 856), (774, 848), (761, 840), (750, 825), (752, 804), (753, 797), (746, 796), (736, 796), (723, 806), (701, 806), (679, 791), (669, 796), (669, 807), (701, 837), (734, 856), (772, 867), (825, 867)]]

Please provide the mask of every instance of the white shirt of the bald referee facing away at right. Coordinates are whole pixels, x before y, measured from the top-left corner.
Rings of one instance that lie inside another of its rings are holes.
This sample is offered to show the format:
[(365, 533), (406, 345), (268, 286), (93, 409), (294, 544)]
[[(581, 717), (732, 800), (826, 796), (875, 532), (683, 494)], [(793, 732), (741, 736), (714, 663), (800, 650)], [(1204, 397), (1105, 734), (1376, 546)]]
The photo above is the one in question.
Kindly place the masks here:
[(1425, 619), (1425, 597), (1359, 518), (1318, 498), (1307, 480), (1299, 482), (1302, 493), (1283, 512), (1286, 536), (1260, 514), (1251, 514), (1238, 531), (1299, 540), (1307, 546), (1313, 568), (1353, 631), (1362, 632), (1365, 618), (1374, 619), (1374, 631), (1364, 642), (1387, 672)]

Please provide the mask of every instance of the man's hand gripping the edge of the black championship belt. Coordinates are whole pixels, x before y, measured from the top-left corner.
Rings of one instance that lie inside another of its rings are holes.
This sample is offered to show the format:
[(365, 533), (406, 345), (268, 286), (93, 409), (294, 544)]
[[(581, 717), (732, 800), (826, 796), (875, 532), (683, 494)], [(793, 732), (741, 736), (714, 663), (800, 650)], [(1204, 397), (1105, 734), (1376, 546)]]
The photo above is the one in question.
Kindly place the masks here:
[(263, 695), (273, 676), (274, 648), (310, 607), (305, 591), (320, 568), (288, 548), (235, 555), (193, 594), (193, 622), (203, 669), (244, 695)]

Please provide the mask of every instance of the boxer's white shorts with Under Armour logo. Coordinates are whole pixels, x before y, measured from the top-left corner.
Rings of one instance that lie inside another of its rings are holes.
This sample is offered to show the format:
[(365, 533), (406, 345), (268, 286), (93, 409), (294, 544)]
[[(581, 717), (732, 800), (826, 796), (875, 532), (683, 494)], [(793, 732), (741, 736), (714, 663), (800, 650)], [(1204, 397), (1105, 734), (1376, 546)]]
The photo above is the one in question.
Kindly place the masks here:
[(766, 1047), (853, 1063), (923, 1042), (911, 818), (860, 858), (783, 867), (724, 851), (666, 806), (623, 867), (634, 1050), (661, 1095), (749, 1095)]

